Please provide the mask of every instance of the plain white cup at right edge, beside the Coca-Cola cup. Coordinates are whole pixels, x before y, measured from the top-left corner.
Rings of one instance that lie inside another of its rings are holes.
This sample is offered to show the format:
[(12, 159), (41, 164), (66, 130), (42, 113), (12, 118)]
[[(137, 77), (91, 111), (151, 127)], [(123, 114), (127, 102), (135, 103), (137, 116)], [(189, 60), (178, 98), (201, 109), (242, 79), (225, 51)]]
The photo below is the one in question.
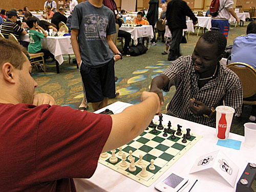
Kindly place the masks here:
[(256, 123), (244, 124), (244, 144), (254, 147), (256, 144)]

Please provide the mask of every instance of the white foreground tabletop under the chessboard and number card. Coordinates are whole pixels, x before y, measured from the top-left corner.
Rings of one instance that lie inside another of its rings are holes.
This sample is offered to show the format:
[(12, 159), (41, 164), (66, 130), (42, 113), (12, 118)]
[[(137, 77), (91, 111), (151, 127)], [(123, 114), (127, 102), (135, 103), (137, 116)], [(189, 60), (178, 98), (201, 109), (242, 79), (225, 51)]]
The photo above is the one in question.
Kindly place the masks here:
[[(120, 113), (127, 106), (130, 106), (129, 103), (124, 102), (115, 102), (106, 108), (99, 110), (101, 112), (105, 109), (110, 109), (114, 113)], [(155, 120), (158, 121), (158, 116), (155, 116)], [(173, 166), (171, 166), (154, 184), (150, 187), (146, 187), (126, 176), (115, 172), (111, 168), (108, 168), (100, 163), (98, 163), (98, 167), (96, 172), (90, 179), (75, 179), (77, 191), (154, 191), (157, 190), (154, 188), (154, 185), (163, 179), (168, 173), (176, 172), (178, 174), (184, 175), (189, 179), (189, 185), (183, 190), (183, 192), (187, 192), (190, 187), (193, 185), (194, 181), (198, 179), (198, 182), (195, 184), (191, 192), (194, 191), (220, 191), (220, 192), (228, 192), (228, 191), (236, 191), (236, 186), (233, 188), (227, 182), (225, 182), (218, 175), (210, 175), (209, 172), (199, 172), (195, 174), (188, 174), (191, 167), (195, 163), (196, 159), (204, 154), (215, 152), (220, 150), (224, 154), (228, 155), (228, 157), (239, 166), (239, 174), (237, 177), (237, 181), (243, 173), (248, 162), (255, 163), (256, 147), (249, 148), (244, 145), (244, 137), (236, 134), (229, 134), (230, 139), (240, 140), (242, 141), (242, 145), (240, 150), (234, 150), (232, 148), (222, 147), (216, 145), (216, 130), (212, 127), (208, 127), (205, 125), (201, 125), (198, 123), (190, 122), (187, 120), (179, 119), (172, 116), (167, 116), (163, 114), (163, 124), (167, 124), (168, 120), (172, 122), (173, 125), (180, 124), (182, 125), (182, 129), (186, 129), (189, 127), (191, 129), (191, 133), (195, 133), (197, 135), (203, 136), (189, 151), (187, 151)]]

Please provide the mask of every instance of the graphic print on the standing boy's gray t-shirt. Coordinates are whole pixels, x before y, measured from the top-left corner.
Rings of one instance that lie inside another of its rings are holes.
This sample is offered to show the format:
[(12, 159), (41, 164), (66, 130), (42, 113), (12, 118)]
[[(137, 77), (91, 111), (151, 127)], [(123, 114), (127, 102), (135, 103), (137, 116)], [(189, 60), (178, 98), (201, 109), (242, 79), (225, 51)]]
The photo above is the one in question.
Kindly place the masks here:
[(106, 28), (108, 27), (109, 19), (102, 15), (85, 15), (84, 16), (84, 31), (86, 40), (106, 40)]

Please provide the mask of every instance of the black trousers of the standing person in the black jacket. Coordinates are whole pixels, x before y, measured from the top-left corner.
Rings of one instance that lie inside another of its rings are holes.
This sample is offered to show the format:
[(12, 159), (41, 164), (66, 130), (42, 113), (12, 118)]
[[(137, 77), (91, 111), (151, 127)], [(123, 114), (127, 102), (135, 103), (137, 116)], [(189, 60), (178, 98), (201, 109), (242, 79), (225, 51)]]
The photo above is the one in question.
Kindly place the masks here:
[(171, 29), (172, 32), (172, 44), (170, 45), (168, 60), (175, 60), (180, 54), (180, 43), (182, 39), (183, 29)]

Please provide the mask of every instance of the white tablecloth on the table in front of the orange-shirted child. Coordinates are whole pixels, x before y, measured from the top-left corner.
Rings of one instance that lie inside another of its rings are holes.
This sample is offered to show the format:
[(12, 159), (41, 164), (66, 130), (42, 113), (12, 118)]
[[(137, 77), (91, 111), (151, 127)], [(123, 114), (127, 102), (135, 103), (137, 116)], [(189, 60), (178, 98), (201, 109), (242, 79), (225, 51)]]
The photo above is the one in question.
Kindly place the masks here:
[(150, 37), (152, 39), (154, 37), (153, 29), (151, 25), (143, 25), (142, 27), (120, 27), (119, 30), (126, 31), (131, 33), (131, 37), (135, 42), (135, 45), (138, 44), (137, 38), (139, 37)]

